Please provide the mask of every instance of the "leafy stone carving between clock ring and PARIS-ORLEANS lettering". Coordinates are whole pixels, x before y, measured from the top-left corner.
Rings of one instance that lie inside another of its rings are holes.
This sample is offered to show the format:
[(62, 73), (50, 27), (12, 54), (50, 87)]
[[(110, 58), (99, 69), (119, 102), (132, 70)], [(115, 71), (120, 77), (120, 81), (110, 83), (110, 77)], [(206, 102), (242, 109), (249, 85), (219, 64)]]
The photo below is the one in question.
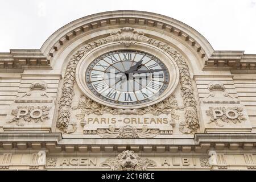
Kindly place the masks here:
[(115, 109), (113, 107), (105, 106), (91, 100), (86, 96), (81, 96), (77, 107), (73, 107), (73, 110), (80, 109), (81, 113), (77, 114), (77, 119), (84, 119), (86, 114), (102, 115), (104, 113), (110, 113), (113, 115), (143, 115), (143, 114), (171, 114), (172, 119), (179, 119), (179, 115), (175, 114), (175, 110), (181, 109), (177, 106), (175, 96), (170, 96), (158, 104), (144, 107), (141, 109)]

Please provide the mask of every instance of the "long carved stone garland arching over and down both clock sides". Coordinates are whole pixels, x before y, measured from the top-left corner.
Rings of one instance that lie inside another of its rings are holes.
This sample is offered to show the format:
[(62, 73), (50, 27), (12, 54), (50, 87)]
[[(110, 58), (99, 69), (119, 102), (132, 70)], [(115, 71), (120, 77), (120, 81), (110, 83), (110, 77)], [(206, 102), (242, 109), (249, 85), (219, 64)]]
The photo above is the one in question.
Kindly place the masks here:
[[(59, 117), (57, 127), (63, 131), (66, 131), (69, 127), (77, 64), (87, 52), (110, 42), (119, 42), (120, 44), (125, 44), (126, 46), (130, 46), (130, 44), (135, 44), (136, 42), (151, 44), (167, 52), (176, 61), (180, 71), (180, 85), (185, 108), (185, 121), (180, 123), (180, 131), (182, 133), (195, 132), (199, 128), (199, 121), (196, 112), (196, 100), (193, 94), (189, 68), (183, 56), (181, 56), (179, 52), (175, 51), (175, 49), (171, 48), (167, 43), (160, 42), (156, 39), (147, 38), (143, 32), (137, 32), (134, 30), (134, 28), (130, 27), (121, 28), (121, 30), (117, 32), (112, 32), (110, 36), (106, 38), (85, 44), (85, 46), (80, 48), (80, 50), (73, 55), (72, 59), (69, 60), (64, 76), (62, 95), (59, 100)], [(126, 111), (119, 110), (118, 112), (122, 113)]]

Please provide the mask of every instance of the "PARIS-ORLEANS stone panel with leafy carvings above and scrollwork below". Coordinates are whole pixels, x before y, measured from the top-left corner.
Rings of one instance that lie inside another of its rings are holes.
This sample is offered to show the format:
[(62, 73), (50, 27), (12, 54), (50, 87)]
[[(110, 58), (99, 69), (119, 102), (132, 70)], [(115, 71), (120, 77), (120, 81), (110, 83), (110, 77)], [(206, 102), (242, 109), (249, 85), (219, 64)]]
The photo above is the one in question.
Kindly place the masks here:
[(156, 135), (171, 135), (172, 127), (180, 109), (174, 96), (142, 109), (116, 109), (98, 104), (81, 96), (79, 105), (73, 110), (85, 135), (99, 135), (103, 138), (153, 138)]

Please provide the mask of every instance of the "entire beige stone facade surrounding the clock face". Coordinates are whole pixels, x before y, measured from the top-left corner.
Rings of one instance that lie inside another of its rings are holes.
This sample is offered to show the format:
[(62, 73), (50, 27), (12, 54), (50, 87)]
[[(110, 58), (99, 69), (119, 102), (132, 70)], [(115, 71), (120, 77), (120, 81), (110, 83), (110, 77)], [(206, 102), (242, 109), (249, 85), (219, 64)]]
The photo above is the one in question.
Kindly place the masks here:
[[(162, 60), (164, 94), (129, 107), (94, 96), (85, 70), (117, 50)], [(0, 170), (256, 169), (255, 61), (163, 15), (75, 20), (40, 50), (0, 53)]]

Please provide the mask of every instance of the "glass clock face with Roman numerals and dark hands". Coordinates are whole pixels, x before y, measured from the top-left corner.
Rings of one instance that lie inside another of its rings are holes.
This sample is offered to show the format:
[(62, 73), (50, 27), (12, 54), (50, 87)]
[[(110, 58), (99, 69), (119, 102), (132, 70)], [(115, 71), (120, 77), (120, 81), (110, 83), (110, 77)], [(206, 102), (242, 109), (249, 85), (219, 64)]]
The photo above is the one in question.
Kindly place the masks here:
[(114, 51), (94, 60), (85, 72), (91, 92), (118, 105), (138, 105), (157, 100), (170, 76), (166, 65), (148, 53)]

